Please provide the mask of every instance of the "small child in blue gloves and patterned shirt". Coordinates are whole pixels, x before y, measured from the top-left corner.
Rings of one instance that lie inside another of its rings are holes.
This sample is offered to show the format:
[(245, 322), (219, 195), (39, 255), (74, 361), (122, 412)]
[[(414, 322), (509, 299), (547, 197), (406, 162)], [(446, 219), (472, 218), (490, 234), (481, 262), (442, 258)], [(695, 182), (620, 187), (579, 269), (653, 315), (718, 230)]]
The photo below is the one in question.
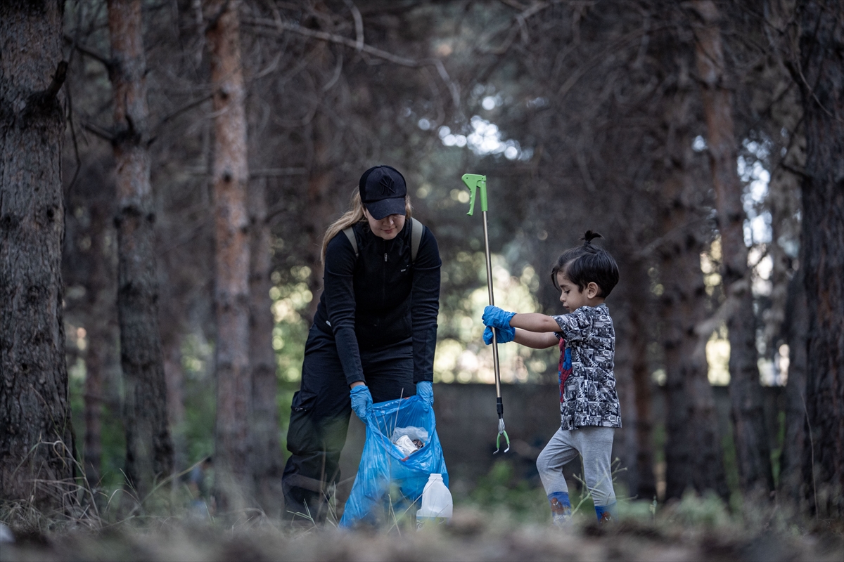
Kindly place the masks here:
[(484, 309), (488, 326), (484, 341), (488, 344), (495, 328), (499, 343), (515, 340), (534, 349), (560, 346), (562, 422), (536, 461), (557, 525), (571, 517), (563, 465), (577, 453), (583, 458), (598, 521), (612, 519), (615, 507), (610, 459), (614, 428), (621, 427), (621, 415), (613, 375), (615, 331), (603, 301), (619, 281), (619, 267), (609, 252), (592, 245), (592, 239), (599, 237), (603, 238), (587, 231), (582, 246), (566, 250), (551, 270), (551, 281), (560, 290), (560, 302), (568, 314)]

